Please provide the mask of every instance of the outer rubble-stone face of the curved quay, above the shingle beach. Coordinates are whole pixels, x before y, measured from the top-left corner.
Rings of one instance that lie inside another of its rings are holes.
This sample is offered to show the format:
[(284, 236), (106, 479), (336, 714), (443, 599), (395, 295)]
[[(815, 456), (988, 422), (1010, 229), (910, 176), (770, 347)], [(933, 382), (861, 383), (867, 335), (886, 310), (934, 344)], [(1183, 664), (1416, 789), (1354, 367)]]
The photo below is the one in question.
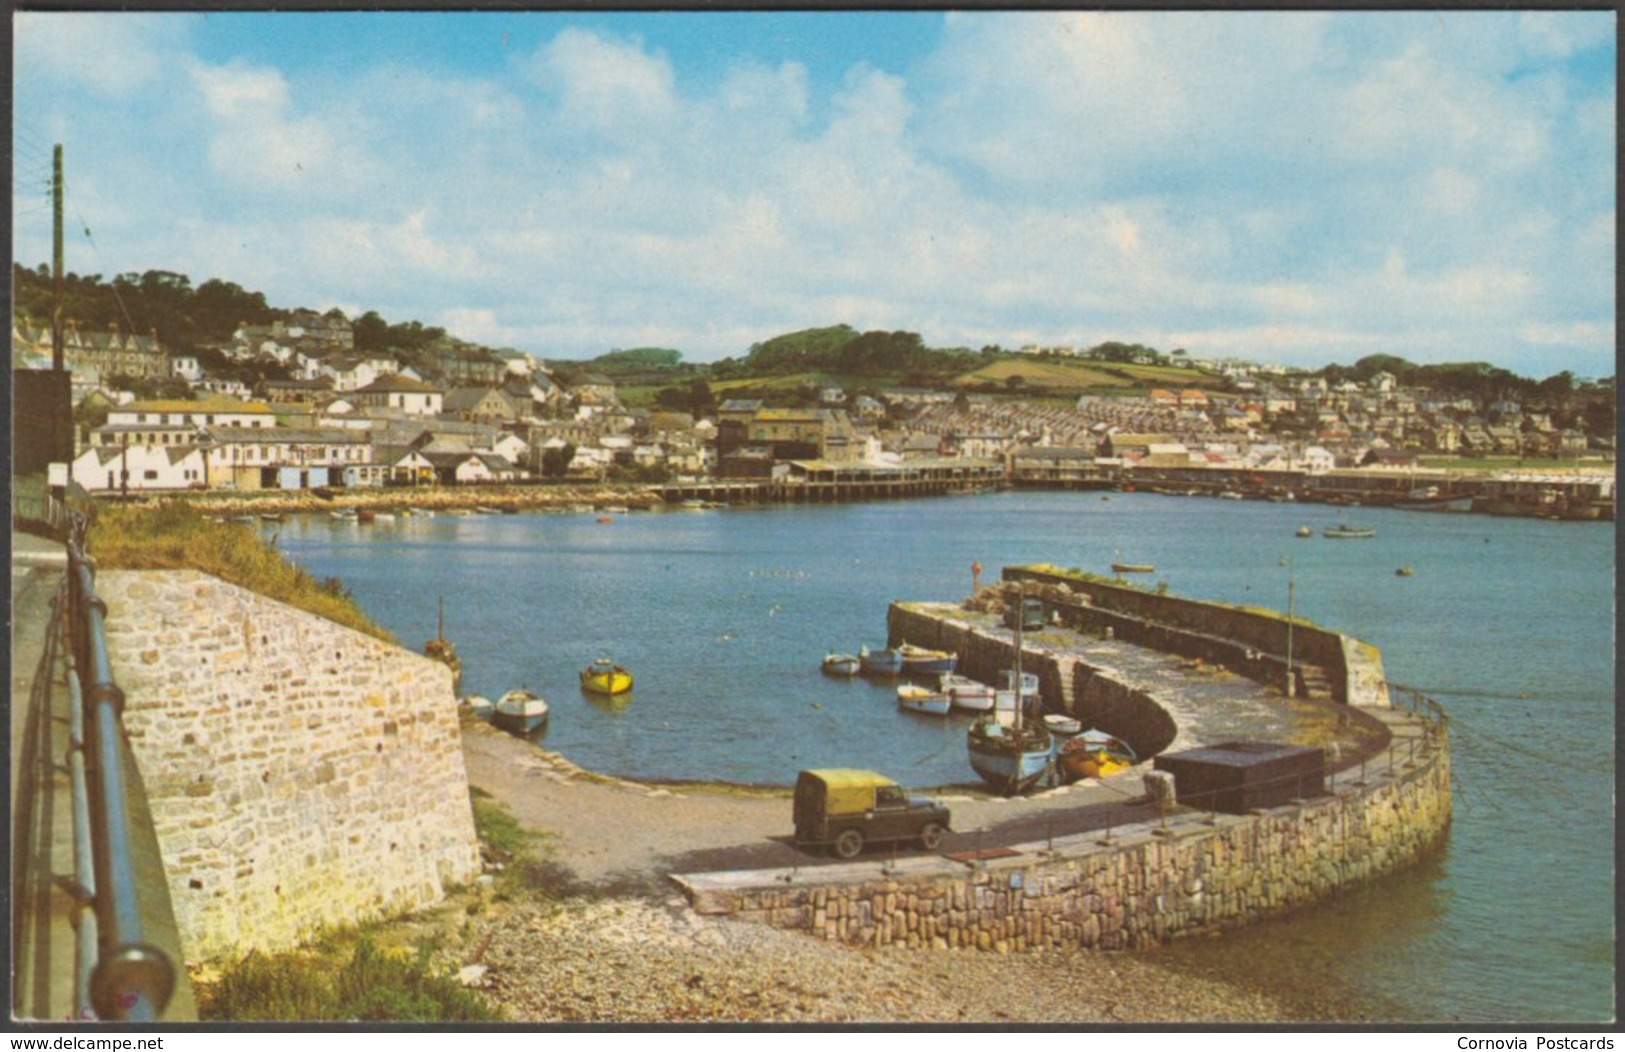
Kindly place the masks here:
[[(852, 863), (756, 886), (691, 886), (700, 912), (827, 940), (1014, 953), (1139, 950), (1300, 909), (1412, 865), (1445, 837), (1450, 753), (1441, 737), (1398, 776), (1250, 815), (1183, 811), (1025, 846), (982, 862)], [(811, 883), (816, 878), (817, 883)]]

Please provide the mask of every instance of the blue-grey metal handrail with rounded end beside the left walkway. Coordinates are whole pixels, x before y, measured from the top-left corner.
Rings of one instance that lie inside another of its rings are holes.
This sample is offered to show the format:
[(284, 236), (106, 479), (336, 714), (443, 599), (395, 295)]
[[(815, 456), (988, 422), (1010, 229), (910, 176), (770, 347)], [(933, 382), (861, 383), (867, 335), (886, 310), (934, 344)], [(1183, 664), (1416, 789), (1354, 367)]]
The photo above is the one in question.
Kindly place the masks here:
[[(73, 681), (83, 689), (81, 738), (94, 896), (96, 963), (89, 1002), (101, 1019), (154, 1021), (176, 989), (176, 963), (143, 938), (130, 844), (130, 772), (124, 764), (124, 691), (107, 652), (107, 605), (96, 595), (96, 567), (84, 554), (86, 520), (68, 530), (68, 631)], [(88, 728), (88, 735), (83, 730)], [(80, 878), (83, 885), (83, 876)], [(81, 935), (83, 938), (83, 935)]]

